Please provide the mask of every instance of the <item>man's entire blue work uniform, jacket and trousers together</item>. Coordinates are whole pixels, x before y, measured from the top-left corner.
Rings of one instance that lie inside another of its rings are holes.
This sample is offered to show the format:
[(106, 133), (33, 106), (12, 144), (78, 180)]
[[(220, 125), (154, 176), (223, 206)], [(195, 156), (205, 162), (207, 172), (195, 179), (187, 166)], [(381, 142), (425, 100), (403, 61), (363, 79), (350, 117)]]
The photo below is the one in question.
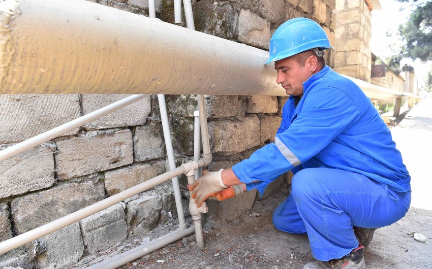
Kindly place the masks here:
[(325, 65), (295, 101), (287, 100), (274, 143), (232, 169), (261, 194), (292, 170), (274, 225), (307, 233), (316, 259), (341, 258), (358, 246), (353, 226), (378, 228), (405, 216), (411, 178), (389, 128), (353, 81)]

